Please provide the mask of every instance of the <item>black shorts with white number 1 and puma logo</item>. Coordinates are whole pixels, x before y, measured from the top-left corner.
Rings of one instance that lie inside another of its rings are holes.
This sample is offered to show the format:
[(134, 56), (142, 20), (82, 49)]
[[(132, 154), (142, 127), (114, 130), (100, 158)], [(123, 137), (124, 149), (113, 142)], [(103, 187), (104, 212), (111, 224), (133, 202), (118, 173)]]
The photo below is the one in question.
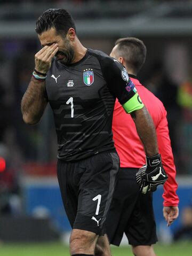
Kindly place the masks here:
[(58, 160), (57, 174), (65, 210), (74, 229), (103, 235), (119, 170), (115, 152), (77, 162)]

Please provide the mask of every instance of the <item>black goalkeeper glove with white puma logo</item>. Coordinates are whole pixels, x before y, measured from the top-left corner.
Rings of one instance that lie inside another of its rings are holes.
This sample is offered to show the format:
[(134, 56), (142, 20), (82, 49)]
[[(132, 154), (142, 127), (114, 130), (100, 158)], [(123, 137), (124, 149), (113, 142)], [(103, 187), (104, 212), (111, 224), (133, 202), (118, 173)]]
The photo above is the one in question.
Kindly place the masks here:
[(139, 190), (143, 194), (154, 192), (158, 185), (164, 184), (168, 179), (162, 166), (161, 154), (146, 157), (146, 163), (147, 165), (143, 165), (136, 174)]

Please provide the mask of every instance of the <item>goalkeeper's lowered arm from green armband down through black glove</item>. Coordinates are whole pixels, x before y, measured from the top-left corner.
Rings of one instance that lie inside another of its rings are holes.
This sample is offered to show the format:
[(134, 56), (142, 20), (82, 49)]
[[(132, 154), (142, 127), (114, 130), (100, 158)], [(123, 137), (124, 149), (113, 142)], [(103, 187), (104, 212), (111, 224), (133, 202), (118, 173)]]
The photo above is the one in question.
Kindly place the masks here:
[(165, 183), (167, 175), (162, 166), (161, 154), (158, 154), (153, 120), (137, 94), (123, 104), (123, 107), (127, 113), (131, 113), (146, 152), (146, 165), (137, 172), (137, 183), (142, 193), (154, 192), (159, 184)]

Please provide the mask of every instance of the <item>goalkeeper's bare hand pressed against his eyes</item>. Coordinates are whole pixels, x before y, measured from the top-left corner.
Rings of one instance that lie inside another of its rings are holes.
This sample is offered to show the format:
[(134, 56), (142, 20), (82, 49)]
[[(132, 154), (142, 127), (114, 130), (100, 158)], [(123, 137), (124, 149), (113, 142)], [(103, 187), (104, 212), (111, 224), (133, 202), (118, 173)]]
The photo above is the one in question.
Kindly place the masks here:
[(58, 51), (58, 44), (45, 45), (35, 55), (35, 69), (38, 72), (46, 74), (51, 67), (51, 60)]

